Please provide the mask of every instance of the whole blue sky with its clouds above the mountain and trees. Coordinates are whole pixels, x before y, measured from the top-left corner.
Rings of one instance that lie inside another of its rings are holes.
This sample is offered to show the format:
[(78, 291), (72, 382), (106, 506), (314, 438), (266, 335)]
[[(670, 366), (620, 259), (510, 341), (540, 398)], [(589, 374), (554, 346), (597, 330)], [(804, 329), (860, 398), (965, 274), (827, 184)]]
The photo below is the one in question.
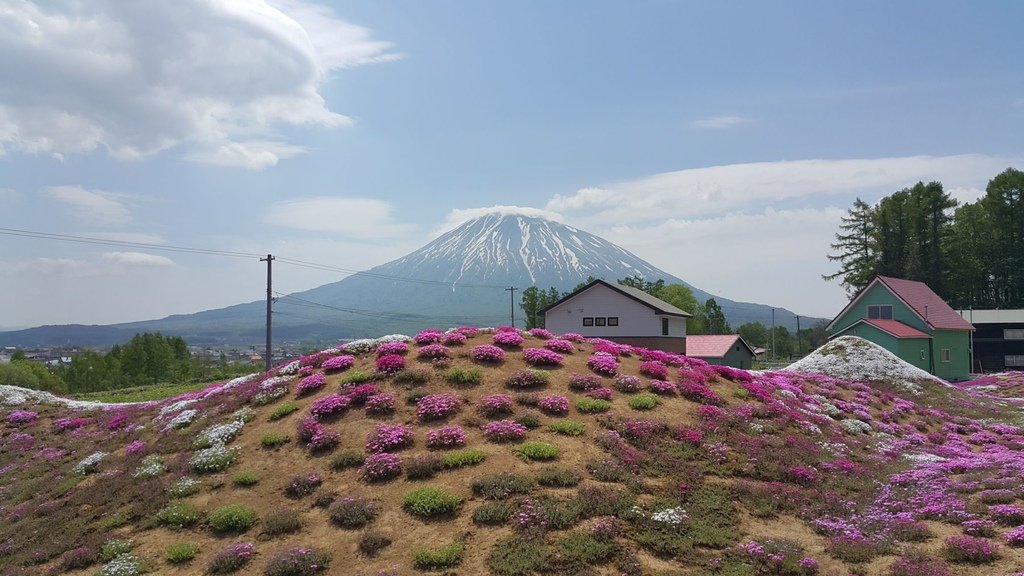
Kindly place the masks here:
[(830, 318), (855, 198), (970, 202), (1024, 168), (1020, 22), (994, 0), (0, 0), (0, 229), (135, 243), (0, 234), (0, 328), (258, 300), (258, 254), (366, 270), (493, 206)]

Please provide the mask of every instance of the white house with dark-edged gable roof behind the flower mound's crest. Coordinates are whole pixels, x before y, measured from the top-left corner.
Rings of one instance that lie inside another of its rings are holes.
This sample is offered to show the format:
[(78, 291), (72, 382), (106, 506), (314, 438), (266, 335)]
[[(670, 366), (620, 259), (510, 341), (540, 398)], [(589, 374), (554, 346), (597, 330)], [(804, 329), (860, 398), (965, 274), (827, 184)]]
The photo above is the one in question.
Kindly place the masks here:
[(545, 328), (556, 334), (577, 332), (624, 344), (686, 352), (686, 319), (691, 315), (630, 286), (595, 280), (541, 312)]

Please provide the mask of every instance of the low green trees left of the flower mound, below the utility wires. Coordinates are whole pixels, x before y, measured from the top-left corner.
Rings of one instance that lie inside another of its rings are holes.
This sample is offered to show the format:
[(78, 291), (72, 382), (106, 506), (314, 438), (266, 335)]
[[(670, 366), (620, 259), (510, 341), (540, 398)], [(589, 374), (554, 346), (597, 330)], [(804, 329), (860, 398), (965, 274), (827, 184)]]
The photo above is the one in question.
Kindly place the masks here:
[(229, 364), (223, 354), (215, 359), (194, 356), (180, 336), (145, 332), (106, 353), (87, 349), (76, 354), (70, 363), (53, 368), (15, 353), (9, 364), (0, 365), (0, 384), (79, 394), (221, 380), (260, 370), (261, 366), (251, 363)]

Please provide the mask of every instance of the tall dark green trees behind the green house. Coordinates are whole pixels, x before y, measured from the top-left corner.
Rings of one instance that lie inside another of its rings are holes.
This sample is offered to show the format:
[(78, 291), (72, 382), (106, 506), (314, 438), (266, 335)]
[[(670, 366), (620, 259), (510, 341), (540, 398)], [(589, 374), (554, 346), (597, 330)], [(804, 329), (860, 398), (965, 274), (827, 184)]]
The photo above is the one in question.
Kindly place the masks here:
[(953, 307), (1024, 307), (1024, 172), (1008, 168), (959, 204), (942, 183), (918, 182), (842, 218), (824, 276), (855, 293), (876, 276), (928, 284)]

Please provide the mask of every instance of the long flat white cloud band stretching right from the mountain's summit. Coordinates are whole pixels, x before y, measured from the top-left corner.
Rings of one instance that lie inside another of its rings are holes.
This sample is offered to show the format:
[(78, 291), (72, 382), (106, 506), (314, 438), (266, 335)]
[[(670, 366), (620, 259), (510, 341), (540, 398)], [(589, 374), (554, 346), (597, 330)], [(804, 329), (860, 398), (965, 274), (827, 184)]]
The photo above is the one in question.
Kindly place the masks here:
[[(1021, 159), (1016, 159), (1020, 163)], [(919, 180), (949, 190), (976, 189), (1015, 159), (982, 155), (731, 164), (664, 172), (556, 195), (546, 208), (581, 212), (591, 222), (644, 221), (730, 211), (758, 211), (782, 201), (854, 195), (873, 201)]]

